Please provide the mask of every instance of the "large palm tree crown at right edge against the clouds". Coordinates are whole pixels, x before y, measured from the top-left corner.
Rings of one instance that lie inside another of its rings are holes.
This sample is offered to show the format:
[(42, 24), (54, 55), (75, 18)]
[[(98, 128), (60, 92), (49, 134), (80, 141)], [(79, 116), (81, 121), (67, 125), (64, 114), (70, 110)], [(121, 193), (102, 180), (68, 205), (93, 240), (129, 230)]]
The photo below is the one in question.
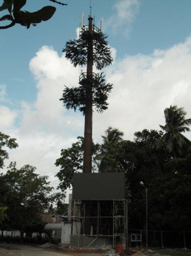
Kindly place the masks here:
[(164, 110), (166, 124), (160, 125), (162, 130), (166, 132), (160, 140), (158, 140), (156, 148), (159, 149), (165, 144), (166, 151), (174, 158), (183, 157), (191, 147), (191, 141), (188, 140), (181, 132), (190, 132), (188, 125), (191, 124), (191, 118), (185, 119), (186, 112), (184, 108), (171, 106)]

